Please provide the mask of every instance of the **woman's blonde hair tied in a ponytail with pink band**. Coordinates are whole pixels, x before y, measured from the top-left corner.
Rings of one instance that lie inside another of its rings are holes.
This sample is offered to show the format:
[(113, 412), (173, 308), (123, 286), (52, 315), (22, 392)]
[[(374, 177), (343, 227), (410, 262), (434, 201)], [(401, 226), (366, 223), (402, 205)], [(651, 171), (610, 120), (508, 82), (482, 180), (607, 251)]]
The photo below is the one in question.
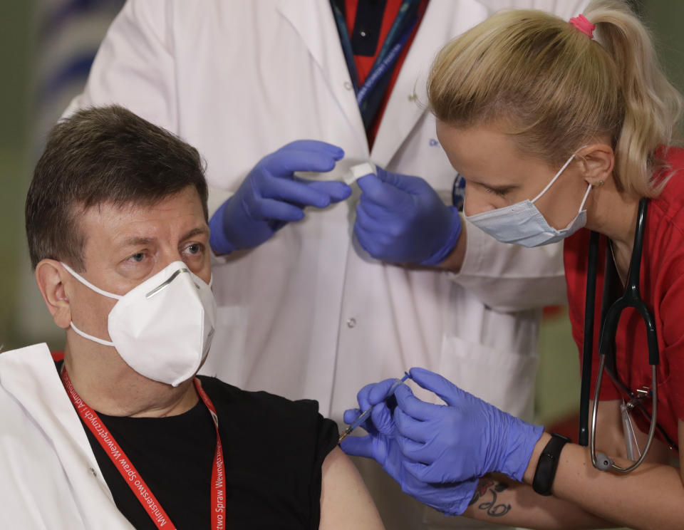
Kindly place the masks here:
[(655, 197), (661, 145), (673, 145), (682, 98), (663, 75), (648, 30), (620, 0), (584, 13), (595, 40), (544, 11), (504, 11), (442, 48), (430, 107), (457, 128), (502, 123), (522, 152), (554, 167), (607, 135), (618, 187)]

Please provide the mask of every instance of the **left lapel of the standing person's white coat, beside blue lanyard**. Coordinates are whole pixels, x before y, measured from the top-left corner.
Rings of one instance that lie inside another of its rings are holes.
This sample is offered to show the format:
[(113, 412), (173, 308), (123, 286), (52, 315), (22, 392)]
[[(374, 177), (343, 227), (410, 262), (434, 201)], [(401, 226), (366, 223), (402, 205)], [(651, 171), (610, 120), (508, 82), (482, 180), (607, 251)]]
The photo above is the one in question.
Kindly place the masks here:
[(356, 95), (329, 1), (280, 0), (277, 6), (280, 14), (299, 33), (311, 57), (321, 68), (328, 89), (346, 116), (354, 137), (358, 138), (362, 152), (368, 152), (363, 120), (356, 104)]

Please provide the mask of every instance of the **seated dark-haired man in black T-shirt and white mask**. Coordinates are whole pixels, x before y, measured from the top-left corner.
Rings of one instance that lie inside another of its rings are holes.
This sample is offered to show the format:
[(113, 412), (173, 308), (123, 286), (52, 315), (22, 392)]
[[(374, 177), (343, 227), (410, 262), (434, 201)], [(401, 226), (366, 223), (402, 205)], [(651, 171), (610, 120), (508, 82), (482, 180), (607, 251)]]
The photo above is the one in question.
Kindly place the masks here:
[(66, 346), (0, 354), (1, 528), (382, 528), (316, 402), (195, 378), (215, 321), (197, 150), (82, 110), (48, 138), (26, 232)]

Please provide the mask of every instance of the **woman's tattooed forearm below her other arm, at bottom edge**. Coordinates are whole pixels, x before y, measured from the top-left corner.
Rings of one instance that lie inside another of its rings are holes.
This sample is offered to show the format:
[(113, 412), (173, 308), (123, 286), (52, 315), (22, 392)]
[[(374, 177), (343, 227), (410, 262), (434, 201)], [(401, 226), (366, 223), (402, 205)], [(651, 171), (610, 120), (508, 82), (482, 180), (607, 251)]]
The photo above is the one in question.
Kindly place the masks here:
[(527, 484), (489, 474), (480, 479), (477, 493), (463, 514), (479, 521), (532, 529), (598, 529), (613, 524), (571, 502), (543, 497)]

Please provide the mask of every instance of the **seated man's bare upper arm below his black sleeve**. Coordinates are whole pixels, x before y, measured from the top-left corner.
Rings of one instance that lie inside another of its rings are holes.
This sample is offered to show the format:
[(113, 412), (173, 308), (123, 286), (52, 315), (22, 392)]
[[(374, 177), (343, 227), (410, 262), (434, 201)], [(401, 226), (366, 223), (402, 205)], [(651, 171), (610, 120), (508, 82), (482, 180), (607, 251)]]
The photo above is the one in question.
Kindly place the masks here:
[(321, 530), (384, 529), (366, 484), (351, 460), (335, 447), (323, 461)]

